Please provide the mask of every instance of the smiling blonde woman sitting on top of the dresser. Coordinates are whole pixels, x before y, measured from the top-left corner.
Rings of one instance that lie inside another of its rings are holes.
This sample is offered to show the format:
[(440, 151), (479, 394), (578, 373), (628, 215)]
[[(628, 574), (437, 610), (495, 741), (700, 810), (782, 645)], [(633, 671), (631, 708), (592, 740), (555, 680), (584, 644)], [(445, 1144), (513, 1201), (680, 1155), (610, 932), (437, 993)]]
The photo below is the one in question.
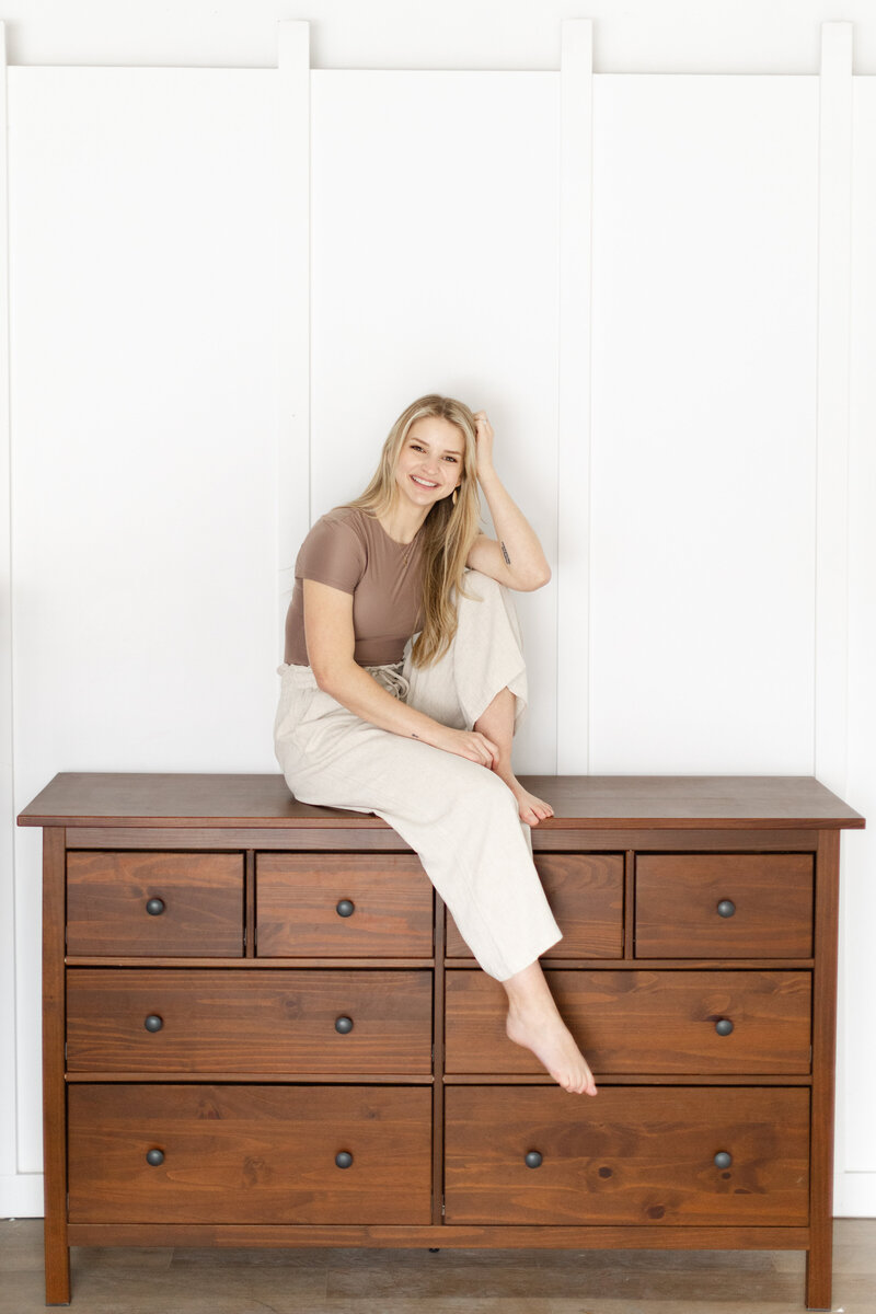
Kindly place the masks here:
[[(538, 957), (561, 938), (529, 828), (553, 808), (511, 770), (527, 702), (510, 589), (550, 578), (493, 465), (483, 411), (449, 397), (395, 420), (370, 484), (298, 553), (274, 746), (302, 803), (374, 812), (419, 854), (506, 1031), (563, 1089), (596, 1085)], [(478, 532), (478, 481), (498, 541)]]

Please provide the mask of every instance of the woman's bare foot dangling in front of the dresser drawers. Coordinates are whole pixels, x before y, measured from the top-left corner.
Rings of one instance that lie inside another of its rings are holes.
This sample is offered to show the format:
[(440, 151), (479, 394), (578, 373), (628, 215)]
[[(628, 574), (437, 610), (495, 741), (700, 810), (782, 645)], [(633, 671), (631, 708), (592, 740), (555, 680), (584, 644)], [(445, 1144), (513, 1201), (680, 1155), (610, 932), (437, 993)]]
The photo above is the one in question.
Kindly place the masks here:
[(532, 963), (502, 984), (508, 995), (508, 1039), (531, 1050), (563, 1091), (596, 1095), (594, 1075), (557, 1012), (541, 966)]

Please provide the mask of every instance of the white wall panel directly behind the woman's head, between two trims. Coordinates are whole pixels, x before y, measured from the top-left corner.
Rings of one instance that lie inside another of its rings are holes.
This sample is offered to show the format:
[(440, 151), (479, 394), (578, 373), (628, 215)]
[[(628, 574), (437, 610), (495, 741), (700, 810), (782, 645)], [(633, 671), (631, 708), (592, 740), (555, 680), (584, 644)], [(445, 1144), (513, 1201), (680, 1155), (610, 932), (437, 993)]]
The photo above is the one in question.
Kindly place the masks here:
[[(314, 72), (311, 117), (311, 519), (361, 491), (397, 415), (440, 392), (487, 411), (556, 560), (557, 75)], [(517, 610), (517, 761), (553, 771), (554, 591)]]

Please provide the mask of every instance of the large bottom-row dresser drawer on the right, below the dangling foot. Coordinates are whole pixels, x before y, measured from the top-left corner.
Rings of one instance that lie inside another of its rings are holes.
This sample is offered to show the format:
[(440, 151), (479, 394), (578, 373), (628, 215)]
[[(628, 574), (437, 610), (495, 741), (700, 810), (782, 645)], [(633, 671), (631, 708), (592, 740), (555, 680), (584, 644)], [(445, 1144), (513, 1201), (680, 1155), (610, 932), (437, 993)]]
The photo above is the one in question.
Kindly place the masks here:
[(449, 1087), (444, 1143), (450, 1225), (809, 1221), (806, 1089)]

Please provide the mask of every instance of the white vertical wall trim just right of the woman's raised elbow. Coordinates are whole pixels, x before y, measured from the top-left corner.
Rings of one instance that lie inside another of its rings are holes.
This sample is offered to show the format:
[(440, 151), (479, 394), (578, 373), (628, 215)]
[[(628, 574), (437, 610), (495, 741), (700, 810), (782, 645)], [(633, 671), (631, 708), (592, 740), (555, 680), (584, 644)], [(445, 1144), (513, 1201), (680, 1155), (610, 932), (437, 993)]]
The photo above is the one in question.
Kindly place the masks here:
[(594, 25), (562, 22), (557, 773), (590, 770), (590, 290)]

